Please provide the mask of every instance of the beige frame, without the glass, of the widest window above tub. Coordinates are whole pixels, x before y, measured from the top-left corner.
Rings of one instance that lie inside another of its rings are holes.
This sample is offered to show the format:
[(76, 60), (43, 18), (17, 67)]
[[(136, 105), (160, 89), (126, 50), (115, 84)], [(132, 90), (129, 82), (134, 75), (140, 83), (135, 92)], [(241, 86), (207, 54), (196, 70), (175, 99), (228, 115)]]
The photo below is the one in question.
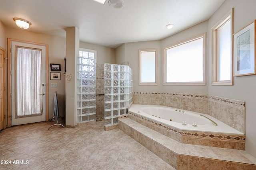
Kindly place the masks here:
[[(186, 44), (186, 43), (190, 43), (191, 41), (194, 41), (194, 40), (197, 40), (197, 39), (200, 39), (202, 38), (203, 39), (203, 51), (202, 51), (202, 57), (203, 57), (203, 80), (202, 82), (166, 82), (167, 80), (167, 62), (166, 62), (166, 54), (167, 54), (167, 50), (170, 49), (170, 48), (173, 48), (173, 47), (177, 47), (177, 46), (180, 46), (180, 45), (183, 45), (183, 44)], [(163, 80), (163, 85), (206, 85), (206, 33), (202, 33), (200, 35), (197, 35), (195, 37), (192, 37), (192, 38), (189, 38), (189, 39), (186, 39), (184, 41), (181, 41), (179, 43), (176, 43), (174, 45), (170, 45), (170, 46), (167, 46), (167, 47), (164, 47), (163, 49), (163, 57), (164, 57), (164, 80)]]

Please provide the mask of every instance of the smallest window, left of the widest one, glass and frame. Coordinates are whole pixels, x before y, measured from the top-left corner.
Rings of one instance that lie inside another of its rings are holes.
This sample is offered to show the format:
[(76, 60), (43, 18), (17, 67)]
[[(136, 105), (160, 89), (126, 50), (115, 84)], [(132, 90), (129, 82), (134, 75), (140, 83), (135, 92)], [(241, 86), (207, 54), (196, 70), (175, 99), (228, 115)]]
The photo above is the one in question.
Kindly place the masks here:
[(157, 85), (157, 49), (139, 50), (139, 85)]

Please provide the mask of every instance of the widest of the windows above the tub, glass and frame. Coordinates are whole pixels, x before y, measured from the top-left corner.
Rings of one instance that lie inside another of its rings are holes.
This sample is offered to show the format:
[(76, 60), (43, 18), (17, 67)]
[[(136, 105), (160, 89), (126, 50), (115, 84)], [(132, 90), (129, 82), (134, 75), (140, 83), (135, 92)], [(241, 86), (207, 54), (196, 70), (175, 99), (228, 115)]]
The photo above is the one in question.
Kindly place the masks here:
[(165, 85), (205, 85), (205, 35), (164, 49)]

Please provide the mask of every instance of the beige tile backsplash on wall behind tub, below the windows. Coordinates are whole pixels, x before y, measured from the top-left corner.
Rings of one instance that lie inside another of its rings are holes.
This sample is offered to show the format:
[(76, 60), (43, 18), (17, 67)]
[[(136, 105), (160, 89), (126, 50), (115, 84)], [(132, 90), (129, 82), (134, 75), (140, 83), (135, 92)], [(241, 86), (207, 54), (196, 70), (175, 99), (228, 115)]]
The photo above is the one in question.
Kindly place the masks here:
[(208, 114), (245, 133), (245, 102), (202, 94), (133, 92), (133, 104), (162, 105)]

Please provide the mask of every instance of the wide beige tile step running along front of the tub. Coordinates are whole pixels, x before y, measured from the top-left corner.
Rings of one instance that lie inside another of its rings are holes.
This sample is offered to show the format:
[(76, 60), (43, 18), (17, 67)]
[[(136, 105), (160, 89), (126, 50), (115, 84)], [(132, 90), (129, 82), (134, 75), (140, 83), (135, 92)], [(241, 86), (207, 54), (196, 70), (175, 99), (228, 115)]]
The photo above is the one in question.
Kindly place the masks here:
[(256, 170), (256, 158), (244, 150), (179, 143), (128, 117), (118, 119), (118, 122), (119, 129), (178, 170)]

